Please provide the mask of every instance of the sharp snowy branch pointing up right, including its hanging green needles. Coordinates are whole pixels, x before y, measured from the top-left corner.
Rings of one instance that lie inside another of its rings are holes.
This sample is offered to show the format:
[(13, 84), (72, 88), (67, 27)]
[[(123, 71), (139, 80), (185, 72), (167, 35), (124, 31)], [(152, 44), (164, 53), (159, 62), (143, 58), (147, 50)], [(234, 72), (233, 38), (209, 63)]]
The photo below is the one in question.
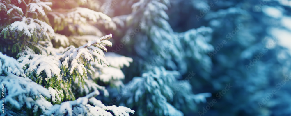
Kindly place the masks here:
[[(71, 79), (74, 81), (75, 77), (77, 77), (80, 81), (84, 82), (82, 77), (86, 75), (86, 67), (90, 66), (91, 61), (97, 60), (99, 64), (104, 63), (109, 66), (109, 63), (104, 58), (104, 52), (101, 49), (107, 51), (102, 44), (112, 46), (112, 43), (108, 41), (110, 38), (112, 38), (111, 34), (100, 39), (95, 39), (94, 41), (88, 41), (87, 44), (79, 48), (75, 48), (74, 46), (67, 47), (65, 52), (58, 56), (62, 62), (61, 69), (65, 81), (71, 82)], [(68, 84), (70, 85), (70, 83)]]

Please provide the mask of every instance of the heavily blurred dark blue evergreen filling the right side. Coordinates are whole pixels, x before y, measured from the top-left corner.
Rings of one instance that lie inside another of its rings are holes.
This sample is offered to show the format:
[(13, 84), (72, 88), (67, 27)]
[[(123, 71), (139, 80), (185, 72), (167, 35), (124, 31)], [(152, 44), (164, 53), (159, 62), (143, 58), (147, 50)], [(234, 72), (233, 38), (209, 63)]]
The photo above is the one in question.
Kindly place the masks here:
[[(216, 99), (217, 103), (207, 113), (196, 115), (290, 115), (290, 102), (285, 100), (290, 97), (290, 84), (282, 85), (290, 79), (290, 53), (280, 45), (281, 34), (290, 32), (286, 22), (290, 21), (290, 5), (283, 3), (173, 1), (169, 23), (175, 31), (199, 26), (213, 30), (210, 43), (214, 49), (207, 53), (213, 64), (211, 75), (205, 78), (198, 75), (208, 73), (197, 73), (191, 85), (193, 90), (212, 93), (207, 102)], [(233, 87), (223, 94), (226, 84)], [(203, 112), (207, 105), (198, 110)]]

